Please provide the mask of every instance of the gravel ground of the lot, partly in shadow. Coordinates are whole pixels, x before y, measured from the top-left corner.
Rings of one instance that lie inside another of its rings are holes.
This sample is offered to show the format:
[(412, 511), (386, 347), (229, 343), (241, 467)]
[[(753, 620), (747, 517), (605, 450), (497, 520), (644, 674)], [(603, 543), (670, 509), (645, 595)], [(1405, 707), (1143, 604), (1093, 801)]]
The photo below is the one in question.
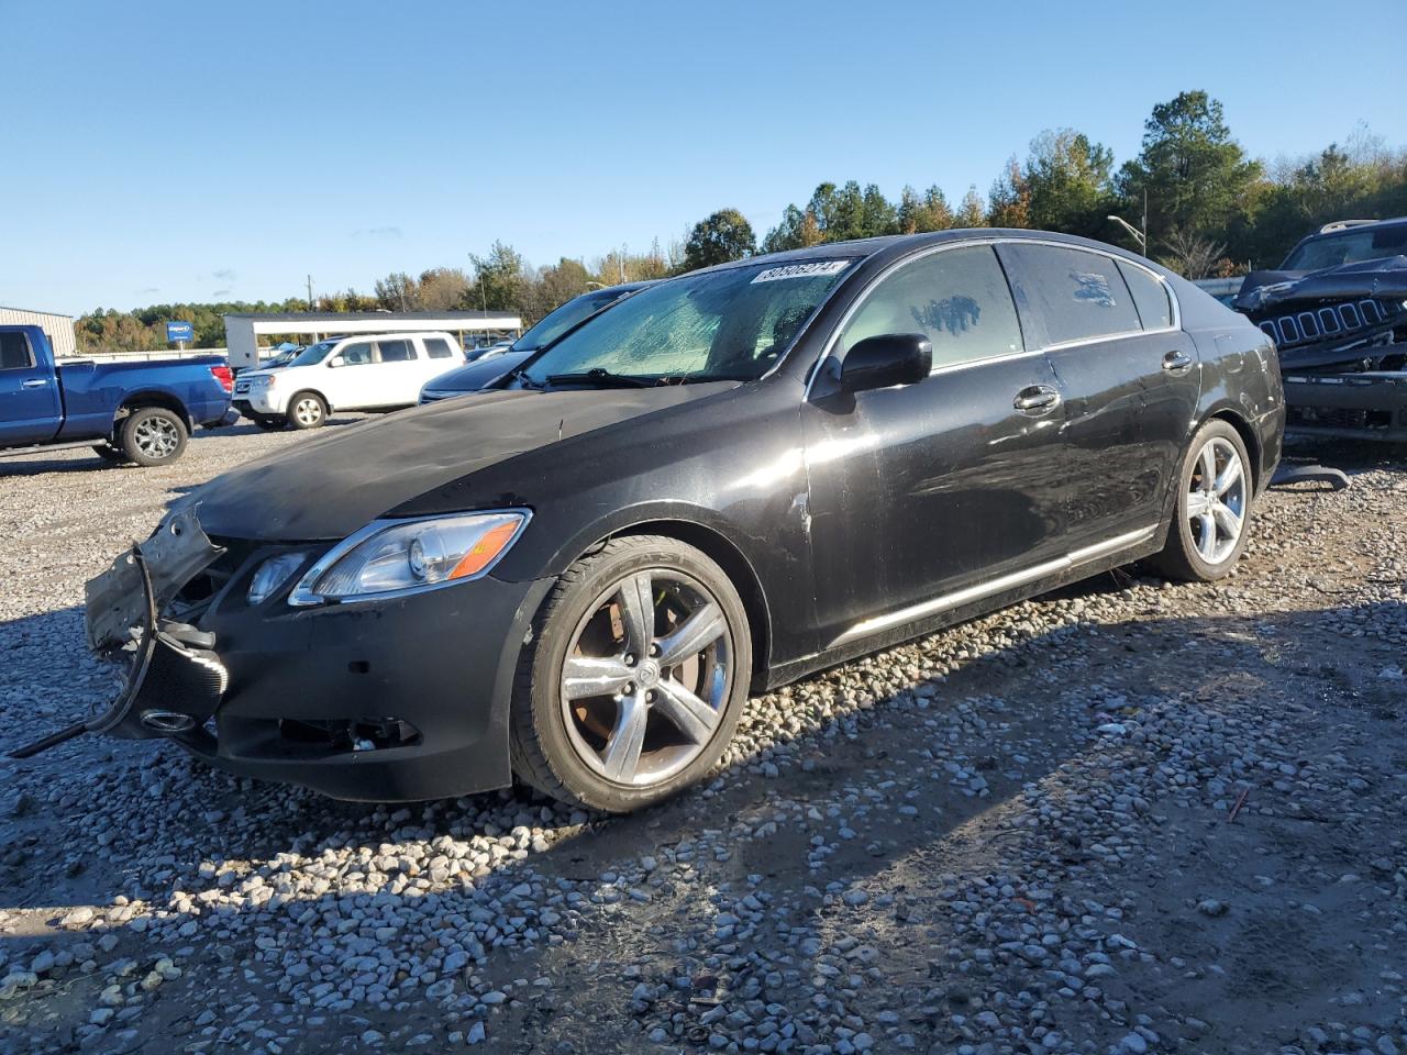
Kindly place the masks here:
[[(298, 442), (0, 463), (0, 748), (110, 693), (83, 581)], [(1334, 457), (1227, 581), (1103, 575), (753, 699), (643, 816), (6, 761), (0, 1047), (1407, 1052), (1407, 468)]]

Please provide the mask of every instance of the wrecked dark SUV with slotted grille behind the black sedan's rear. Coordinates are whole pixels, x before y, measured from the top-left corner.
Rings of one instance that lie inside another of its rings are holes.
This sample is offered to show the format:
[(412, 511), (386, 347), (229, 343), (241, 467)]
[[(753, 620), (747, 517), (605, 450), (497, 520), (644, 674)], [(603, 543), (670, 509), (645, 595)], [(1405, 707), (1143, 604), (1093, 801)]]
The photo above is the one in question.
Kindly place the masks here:
[(1407, 442), (1407, 217), (1325, 224), (1234, 307), (1279, 349), (1292, 432)]

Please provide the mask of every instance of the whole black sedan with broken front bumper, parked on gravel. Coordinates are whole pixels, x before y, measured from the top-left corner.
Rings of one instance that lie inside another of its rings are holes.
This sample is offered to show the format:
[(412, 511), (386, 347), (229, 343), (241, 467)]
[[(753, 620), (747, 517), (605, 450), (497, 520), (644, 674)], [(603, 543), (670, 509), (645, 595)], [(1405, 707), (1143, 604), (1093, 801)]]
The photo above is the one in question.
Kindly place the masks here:
[(1283, 414), (1261, 331), (1097, 242), (694, 271), (512, 387), (179, 499), (89, 587), (94, 648), (149, 629), (84, 727), (342, 798), (516, 774), (633, 810), (711, 769), (750, 689), (1141, 558), (1225, 575)]

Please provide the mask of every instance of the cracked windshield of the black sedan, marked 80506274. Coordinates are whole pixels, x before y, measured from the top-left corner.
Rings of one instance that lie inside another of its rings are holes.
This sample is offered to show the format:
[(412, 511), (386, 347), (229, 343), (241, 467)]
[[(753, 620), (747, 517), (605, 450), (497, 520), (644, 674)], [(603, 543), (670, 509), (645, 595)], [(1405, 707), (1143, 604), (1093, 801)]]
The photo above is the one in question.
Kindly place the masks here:
[(522, 374), (536, 385), (566, 378), (668, 383), (761, 377), (851, 263), (750, 264), (651, 286), (564, 336)]

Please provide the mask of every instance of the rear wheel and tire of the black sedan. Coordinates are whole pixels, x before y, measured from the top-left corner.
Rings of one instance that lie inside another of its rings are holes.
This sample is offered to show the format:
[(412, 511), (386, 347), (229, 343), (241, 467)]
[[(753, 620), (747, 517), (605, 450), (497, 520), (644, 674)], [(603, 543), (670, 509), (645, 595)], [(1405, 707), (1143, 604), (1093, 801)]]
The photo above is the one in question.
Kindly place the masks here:
[(1197, 429), (1178, 473), (1178, 502), (1168, 544), (1154, 557), (1164, 575), (1211, 582), (1231, 573), (1251, 526), (1251, 459), (1228, 422)]

